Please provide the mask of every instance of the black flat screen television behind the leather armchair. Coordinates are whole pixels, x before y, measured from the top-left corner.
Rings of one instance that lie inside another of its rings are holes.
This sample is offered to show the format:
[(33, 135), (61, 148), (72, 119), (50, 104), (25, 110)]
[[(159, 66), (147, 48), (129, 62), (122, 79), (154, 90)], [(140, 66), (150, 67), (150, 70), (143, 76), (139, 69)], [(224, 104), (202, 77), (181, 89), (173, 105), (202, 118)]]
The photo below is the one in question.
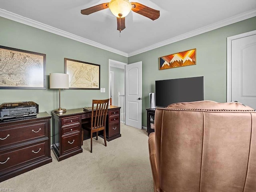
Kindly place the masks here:
[(204, 100), (204, 77), (156, 80), (156, 106)]

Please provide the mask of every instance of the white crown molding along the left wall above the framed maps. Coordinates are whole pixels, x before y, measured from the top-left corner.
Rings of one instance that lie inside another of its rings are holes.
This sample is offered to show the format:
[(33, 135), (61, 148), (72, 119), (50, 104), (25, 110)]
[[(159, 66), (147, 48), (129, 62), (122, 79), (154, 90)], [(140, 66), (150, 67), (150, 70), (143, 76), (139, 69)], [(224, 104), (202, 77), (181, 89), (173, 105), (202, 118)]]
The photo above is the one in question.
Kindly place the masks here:
[(69, 39), (72, 39), (72, 40), (76, 40), (78, 42), (82, 42), (84, 44), (88, 44), (88, 45), (91, 45), (91, 46), (94, 46), (94, 47), (97, 47), (97, 48), (100, 48), (100, 49), (104, 49), (104, 50), (107, 50), (107, 51), (110, 51), (110, 52), (128, 57), (128, 54), (125, 53), (125, 52), (110, 48), (108, 46), (105, 46), (105, 45), (102, 45), (100, 43), (94, 42), (92, 40), (82, 38), (80, 36), (77, 36), (77, 35), (74, 35), (72, 33), (66, 32), (64, 30), (60, 30), (58, 28), (55, 28), (55, 27), (46, 25), (44, 23), (41, 23), (41, 22), (29, 19), (29, 18), (20, 16), (18, 14), (9, 12), (9, 11), (1, 9), (1, 8), (0, 8), (0, 16), (3, 17), (3, 18), (6, 18), (6, 19), (10, 19), (10, 20), (13, 20), (13, 21), (16, 21), (16, 22), (19, 22), (19, 23), (22, 23), (22, 24), (25, 24), (25, 25), (28, 25), (28, 26), (32, 26), (32, 27), (35, 27), (35, 28), (38, 28), (38, 29), (56, 34), (56, 35), (60, 35), (60, 36), (63, 36), (63, 37), (66, 37), (66, 38), (69, 38)]

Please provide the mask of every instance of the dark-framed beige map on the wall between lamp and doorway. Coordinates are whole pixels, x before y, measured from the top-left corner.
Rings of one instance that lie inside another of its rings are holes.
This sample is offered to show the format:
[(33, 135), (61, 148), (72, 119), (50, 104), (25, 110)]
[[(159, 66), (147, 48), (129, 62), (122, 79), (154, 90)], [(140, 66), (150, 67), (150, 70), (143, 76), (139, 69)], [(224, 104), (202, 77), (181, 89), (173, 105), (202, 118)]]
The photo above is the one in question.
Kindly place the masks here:
[(100, 65), (64, 58), (69, 89), (100, 89)]

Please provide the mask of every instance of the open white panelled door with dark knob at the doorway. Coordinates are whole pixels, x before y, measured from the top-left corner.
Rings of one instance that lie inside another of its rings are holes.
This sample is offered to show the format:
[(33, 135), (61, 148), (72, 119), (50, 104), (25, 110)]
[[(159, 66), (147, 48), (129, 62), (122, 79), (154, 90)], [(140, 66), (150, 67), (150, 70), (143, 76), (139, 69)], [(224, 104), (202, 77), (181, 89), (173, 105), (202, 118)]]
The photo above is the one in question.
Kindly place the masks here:
[(142, 62), (125, 66), (125, 124), (142, 129)]

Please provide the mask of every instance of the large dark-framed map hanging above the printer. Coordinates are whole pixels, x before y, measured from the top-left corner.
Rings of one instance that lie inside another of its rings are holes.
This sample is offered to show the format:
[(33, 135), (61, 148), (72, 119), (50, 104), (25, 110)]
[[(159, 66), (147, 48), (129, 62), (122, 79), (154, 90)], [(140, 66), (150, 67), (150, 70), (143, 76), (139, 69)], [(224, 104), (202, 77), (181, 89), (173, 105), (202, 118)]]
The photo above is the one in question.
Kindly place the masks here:
[(0, 46), (0, 89), (46, 89), (46, 54)]

